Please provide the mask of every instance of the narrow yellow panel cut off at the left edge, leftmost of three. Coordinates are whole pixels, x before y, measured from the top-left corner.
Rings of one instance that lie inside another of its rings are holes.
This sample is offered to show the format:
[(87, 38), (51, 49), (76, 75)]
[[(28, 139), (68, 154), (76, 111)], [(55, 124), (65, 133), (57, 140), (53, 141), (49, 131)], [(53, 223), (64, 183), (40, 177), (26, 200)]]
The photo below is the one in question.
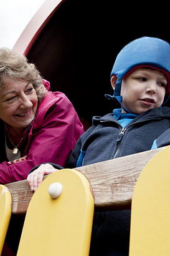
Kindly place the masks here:
[(11, 219), (11, 193), (5, 185), (0, 185), (0, 255), (6, 238), (6, 232)]

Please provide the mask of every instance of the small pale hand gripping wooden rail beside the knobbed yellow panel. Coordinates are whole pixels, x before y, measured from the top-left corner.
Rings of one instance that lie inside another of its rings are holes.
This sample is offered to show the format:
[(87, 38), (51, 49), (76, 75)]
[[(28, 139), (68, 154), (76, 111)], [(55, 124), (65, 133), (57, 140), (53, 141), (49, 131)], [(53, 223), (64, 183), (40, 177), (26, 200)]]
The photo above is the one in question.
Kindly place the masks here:
[(50, 164), (41, 164), (34, 172), (31, 172), (31, 174), (27, 177), (27, 182), (29, 186), (31, 187), (31, 191), (35, 191), (42, 180), (44, 179), (44, 175), (46, 174), (52, 174), (53, 172), (56, 172), (57, 169), (55, 169)]

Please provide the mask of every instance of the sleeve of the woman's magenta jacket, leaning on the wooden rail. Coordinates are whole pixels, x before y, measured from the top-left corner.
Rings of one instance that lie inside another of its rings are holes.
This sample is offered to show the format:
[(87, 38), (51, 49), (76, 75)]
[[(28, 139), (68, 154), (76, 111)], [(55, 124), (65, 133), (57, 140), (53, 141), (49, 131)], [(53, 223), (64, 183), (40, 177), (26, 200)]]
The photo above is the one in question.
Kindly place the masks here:
[(67, 97), (61, 97), (44, 116), (42, 126), (32, 130), (26, 152), (20, 162), (0, 164), (0, 183), (27, 178), (35, 165), (53, 162), (65, 167), (70, 152), (83, 133), (83, 126)]

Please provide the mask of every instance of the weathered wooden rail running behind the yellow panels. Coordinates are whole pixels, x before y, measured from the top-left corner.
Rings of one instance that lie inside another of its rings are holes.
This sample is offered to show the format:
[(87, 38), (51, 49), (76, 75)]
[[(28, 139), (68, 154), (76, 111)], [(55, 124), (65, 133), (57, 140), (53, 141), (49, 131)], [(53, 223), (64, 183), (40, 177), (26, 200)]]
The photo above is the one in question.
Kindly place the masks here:
[[(163, 149), (164, 147), (75, 169), (82, 172), (90, 182), (95, 207), (100, 210), (130, 209), (133, 189), (141, 170)], [(33, 194), (26, 180), (6, 184), (6, 187), (12, 194), (12, 213), (26, 213)]]

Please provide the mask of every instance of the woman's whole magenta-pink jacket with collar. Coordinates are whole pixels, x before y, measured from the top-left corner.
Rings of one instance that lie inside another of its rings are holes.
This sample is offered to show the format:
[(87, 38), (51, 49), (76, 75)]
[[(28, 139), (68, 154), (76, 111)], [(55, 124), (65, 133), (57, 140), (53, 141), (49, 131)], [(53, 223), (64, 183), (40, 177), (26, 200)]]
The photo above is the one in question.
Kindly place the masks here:
[[(50, 84), (44, 81), (45, 87)], [(3, 124), (3, 122), (2, 122)], [(4, 127), (0, 124), (0, 183), (6, 184), (27, 178), (38, 164), (54, 162), (64, 166), (83, 133), (83, 126), (71, 102), (62, 92), (47, 92), (37, 109), (31, 127), (25, 131), (26, 145), (19, 162), (7, 162)]]

